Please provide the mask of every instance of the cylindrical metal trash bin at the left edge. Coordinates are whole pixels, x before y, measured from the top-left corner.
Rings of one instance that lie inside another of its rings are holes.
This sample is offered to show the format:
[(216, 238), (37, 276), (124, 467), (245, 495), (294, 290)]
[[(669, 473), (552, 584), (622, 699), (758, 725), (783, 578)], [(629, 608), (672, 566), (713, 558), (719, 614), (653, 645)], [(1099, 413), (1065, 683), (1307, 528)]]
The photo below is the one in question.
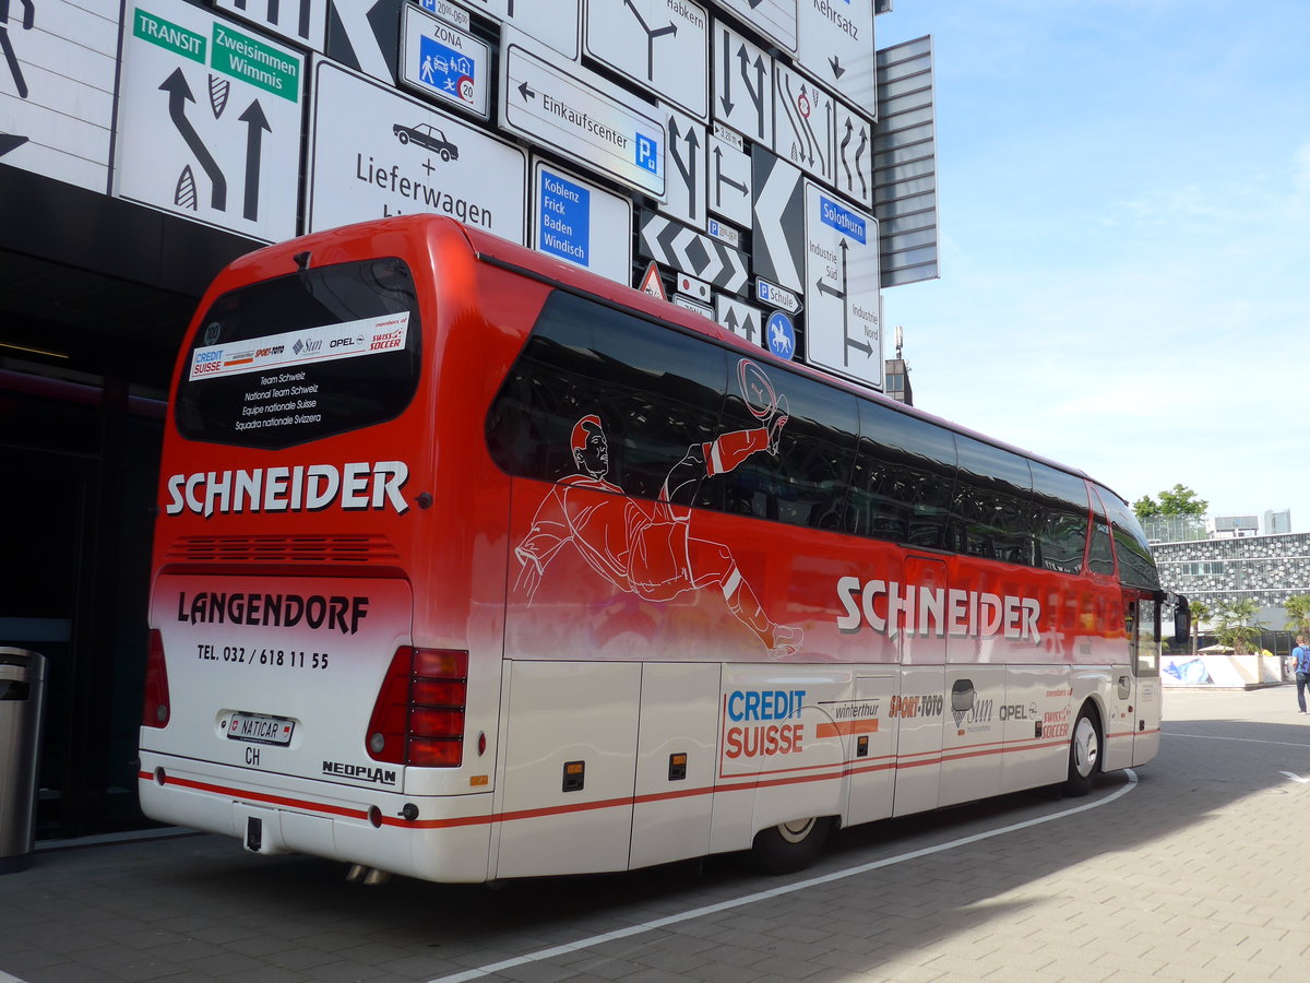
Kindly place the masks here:
[(0, 874), (31, 865), (46, 657), (0, 647)]

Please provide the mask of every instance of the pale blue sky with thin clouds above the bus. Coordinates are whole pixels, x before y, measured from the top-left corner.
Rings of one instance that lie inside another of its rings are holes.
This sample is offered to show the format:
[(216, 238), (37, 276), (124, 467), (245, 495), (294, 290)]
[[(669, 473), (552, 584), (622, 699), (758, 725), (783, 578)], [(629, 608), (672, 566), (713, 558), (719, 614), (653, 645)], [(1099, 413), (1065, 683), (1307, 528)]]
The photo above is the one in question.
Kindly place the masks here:
[(925, 34), (941, 278), (883, 291), (914, 405), (1310, 531), (1310, 3), (895, 0), (875, 43)]

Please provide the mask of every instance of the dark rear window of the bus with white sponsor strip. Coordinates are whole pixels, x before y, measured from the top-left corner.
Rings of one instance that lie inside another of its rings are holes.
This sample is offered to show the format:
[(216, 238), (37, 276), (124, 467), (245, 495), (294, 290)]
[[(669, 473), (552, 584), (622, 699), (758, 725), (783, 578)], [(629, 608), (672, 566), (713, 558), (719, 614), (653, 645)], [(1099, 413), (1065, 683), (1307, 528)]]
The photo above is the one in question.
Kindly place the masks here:
[(183, 436), (279, 450), (398, 417), (421, 366), (414, 278), (397, 258), (293, 273), (206, 312), (176, 402)]

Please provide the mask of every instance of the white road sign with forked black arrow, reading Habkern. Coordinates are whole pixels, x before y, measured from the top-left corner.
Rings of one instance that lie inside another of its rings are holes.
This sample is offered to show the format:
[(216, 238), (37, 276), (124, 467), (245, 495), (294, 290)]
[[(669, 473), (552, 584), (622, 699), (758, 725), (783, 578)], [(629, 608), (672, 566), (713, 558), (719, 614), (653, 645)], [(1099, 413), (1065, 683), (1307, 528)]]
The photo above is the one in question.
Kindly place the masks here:
[(692, 0), (587, 4), (586, 52), (664, 102), (709, 119), (709, 25)]

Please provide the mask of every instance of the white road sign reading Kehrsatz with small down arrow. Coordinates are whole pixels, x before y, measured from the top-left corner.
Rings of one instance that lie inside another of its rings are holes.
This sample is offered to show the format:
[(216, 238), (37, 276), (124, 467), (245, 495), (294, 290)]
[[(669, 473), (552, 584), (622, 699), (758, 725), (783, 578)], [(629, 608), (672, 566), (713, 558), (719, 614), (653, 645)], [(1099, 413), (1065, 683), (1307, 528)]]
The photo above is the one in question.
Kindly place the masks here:
[(798, 4), (796, 63), (853, 106), (878, 97), (872, 0), (804, 0)]

